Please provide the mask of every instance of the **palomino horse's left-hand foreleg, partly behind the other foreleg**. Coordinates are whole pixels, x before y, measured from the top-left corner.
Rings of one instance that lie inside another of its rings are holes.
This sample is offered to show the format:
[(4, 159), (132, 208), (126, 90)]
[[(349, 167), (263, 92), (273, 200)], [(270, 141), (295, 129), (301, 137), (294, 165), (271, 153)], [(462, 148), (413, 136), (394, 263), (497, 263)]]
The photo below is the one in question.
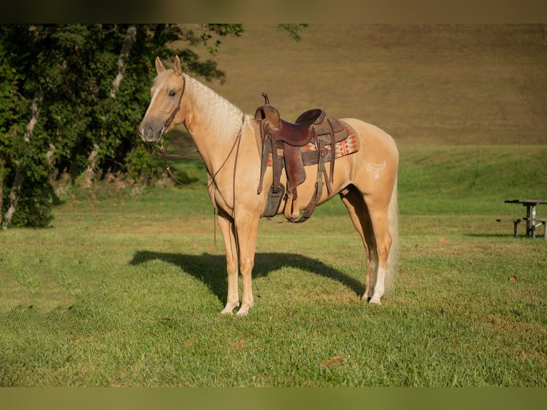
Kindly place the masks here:
[(228, 273), (228, 296), (226, 306), (224, 306), (221, 314), (231, 314), (234, 308), (239, 306), (237, 283), (239, 254), (236, 244), (236, 232), (234, 230), (234, 221), (224, 212), (219, 211), (218, 221), (224, 238), (224, 246), (226, 247), (226, 271)]

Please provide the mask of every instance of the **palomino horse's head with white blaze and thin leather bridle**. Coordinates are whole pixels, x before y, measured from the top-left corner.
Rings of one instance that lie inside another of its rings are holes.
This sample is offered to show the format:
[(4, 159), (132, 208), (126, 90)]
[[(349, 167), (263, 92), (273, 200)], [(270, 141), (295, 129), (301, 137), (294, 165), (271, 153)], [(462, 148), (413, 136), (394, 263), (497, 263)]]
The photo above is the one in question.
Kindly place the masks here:
[[(150, 89), (151, 100), (144, 119), (139, 126), (139, 135), (146, 142), (157, 142), (176, 124), (181, 124), (181, 99), (184, 94), (184, 75), (179, 56), (175, 57), (173, 69), (166, 69), (156, 57), (157, 76)], [(176, 121), (174, 121), (177, 119)]]

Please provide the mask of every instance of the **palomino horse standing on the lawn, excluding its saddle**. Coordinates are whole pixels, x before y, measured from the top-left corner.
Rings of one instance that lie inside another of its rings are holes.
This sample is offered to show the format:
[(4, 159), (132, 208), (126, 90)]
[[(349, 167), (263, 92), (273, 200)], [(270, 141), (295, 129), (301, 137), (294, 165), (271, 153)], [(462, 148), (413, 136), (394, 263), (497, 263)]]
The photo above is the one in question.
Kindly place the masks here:
[[(156, 58), (151, 101), (139, 127), (149, 143), (184, 124), (206, 165), (209, 196), (218, 211), (218, 224), (226, 246), (228, 296), (222, 314), (239, 306), (238, 271), (243, 278), (239, 316), (253, 306), (251, 271), (254, 266), (259, 219), (272, 184), (271, 167), (264, 176), (265, 189), (257, 194), (261, 174), (261, 133), (254, 116), (184, 74), (176, 56), (173, 69)], [(341, 119), (356, 131), (361, 149), (336, 159), (331, 193), (323, 192), (319, 204), (339, 194), (353, 225), (361, 235), (367, 255), (366, 288), (362, 299), (380, 304), (386, 284), (396, 269), (398, 241), (397, 171), (398, 150), (391, 136), (358, 119)], [(329, 171), (330, 163), (326, 164)], [(316, 166), (306, 166), (308, 178), (298, 187), (298, 196), (311, 198), (315, 191)], [(283, 176), (284, 178), (284, 176)], [(283, 212), (286, 198), (278, 214)], [(301, 204), (299, 209), (304, 209)]]

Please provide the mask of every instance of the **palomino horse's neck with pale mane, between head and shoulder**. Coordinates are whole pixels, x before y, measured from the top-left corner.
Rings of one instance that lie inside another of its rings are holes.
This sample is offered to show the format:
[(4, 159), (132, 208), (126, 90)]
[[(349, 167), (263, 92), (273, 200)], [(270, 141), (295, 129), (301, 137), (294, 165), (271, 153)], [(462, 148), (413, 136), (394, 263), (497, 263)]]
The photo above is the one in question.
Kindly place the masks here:
[[(245, 118), (241, 109), (216, 94), (201, 82), (185, 75), (186, 129), (199, 149), (206, 165), (224, 161), (226, 150), (234, 146)], [(185, 98), (183, 97), (183, 100)]]

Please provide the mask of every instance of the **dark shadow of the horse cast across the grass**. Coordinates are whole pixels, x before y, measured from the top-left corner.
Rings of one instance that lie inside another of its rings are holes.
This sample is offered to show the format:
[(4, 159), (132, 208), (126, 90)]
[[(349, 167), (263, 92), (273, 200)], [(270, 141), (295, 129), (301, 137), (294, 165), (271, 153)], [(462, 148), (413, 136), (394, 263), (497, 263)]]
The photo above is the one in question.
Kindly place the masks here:
[[(187, 255), (154, 251), (137, 251), (129, 264), (137, 266), (148, 261), (164, 261), (178, 266), (181, 271), (199, 279), (211, 289), (221, 302), (226, 301), (228, 280), (226, 276), (226, 256), (201, 254)], [(308, 258), (299, 254), (287, 253), (257, 253), (253, 269), (253, 279), (268, 276), (271, 272), (281, 268), (295, 268), (311, 272), (319, 276), (333, 279), (351, 289), (357, 296), (365, 290), (360, 281), (344, 274), (331, 266), (323, 264), (317, 259)], [(364, 278), (363, 278), (364, 279)]]

